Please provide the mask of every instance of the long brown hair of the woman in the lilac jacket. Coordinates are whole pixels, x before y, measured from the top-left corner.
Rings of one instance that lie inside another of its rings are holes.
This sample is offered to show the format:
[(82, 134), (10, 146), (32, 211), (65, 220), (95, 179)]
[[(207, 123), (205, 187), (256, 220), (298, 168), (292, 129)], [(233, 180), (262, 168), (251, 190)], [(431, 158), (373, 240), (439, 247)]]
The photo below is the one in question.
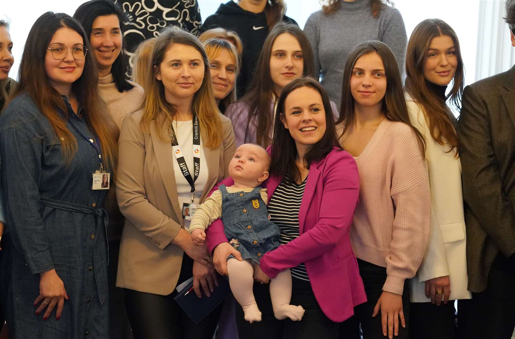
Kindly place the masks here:
[(272, 122), (272, 117), (270, 116), (270, 104), (272, 102), (270, 57), (272, 55), (272, 45), (276, 38), (283, 33), (291, 34), (299, 41), (304, 61), (302, 76), (313, 76), (315, 73), (313, 50), (311, 49), (310, 41), (307, 39), (302, 29), (297, 25), (286, 24), (284, 22), (273, 26), (263, 44), (263, 49), (261, 50), (249, 91), (241, 99), (241, 101), (250, 106), (247, 131), (245, 134), (249, 132), (249, 125), (255, 123), (257, 126), (256, 142), (263, 147), (267, 147), (271, 141), (268, 136), (268, 131), (270, 131)]

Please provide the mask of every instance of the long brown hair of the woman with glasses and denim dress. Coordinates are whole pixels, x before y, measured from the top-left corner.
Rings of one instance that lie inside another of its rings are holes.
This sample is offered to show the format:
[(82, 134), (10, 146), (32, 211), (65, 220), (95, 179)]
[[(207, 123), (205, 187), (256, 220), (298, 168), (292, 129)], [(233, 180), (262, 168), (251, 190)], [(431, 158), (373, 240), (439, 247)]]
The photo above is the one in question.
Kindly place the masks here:
[[(10, 98), (27, 93), (41, 109), (41, 114), (52, 126), (67, 163), (77, 151), (77, 139), (66, 127), (67, 109), (61, 95), (50, 85), (45, 72), (45, 56), (52, 37), (59, 28), (75, 30), (89, 50), (90, 43), (80, 23), (65, 13), (46, 12), (30, 28), (20, 62), (19, 83)], [(94, 133), (102, 148), (102, 157), (110, 169), (116, 169), (119, 130), (109, 114), (107, 104), (98, 93), (98, 70), (91, 53), (86, 53), (82, 75), (72, 84), (78, 102), (85, 110), (89, 130)], [(56, 110), (64, 112), (65, 117)]]

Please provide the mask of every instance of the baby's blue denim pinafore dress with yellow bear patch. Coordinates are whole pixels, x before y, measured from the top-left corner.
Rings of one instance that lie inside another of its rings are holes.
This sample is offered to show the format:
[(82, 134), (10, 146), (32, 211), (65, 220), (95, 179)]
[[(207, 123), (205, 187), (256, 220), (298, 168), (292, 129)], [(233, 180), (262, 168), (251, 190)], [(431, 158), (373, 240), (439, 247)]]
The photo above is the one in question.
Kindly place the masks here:
[(229, 193), (225, 185), (218, 189), (222, 193), (222, 222), (229, 244), (244, 260), (252, 259), (259, 264), (263, 254), (279, 247), (281, 235), (278, 225), (268, 219), (261, 186), (251, 192)]

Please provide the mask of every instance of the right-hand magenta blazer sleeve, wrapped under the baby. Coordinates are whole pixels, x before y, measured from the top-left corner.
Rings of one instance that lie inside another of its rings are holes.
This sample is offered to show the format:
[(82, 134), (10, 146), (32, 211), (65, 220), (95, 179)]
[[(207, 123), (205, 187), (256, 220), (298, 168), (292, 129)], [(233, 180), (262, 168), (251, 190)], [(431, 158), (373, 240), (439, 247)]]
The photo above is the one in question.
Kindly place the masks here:
[[(312, 195), (321, 195), (321, 199), (311, 201), (307, 207), (301, 204), (299, 222), (311, 215), (316, 223), (305, 223), (299, 237), (263, 255), (261, 269), (270, 278), (333, 249), (348, 234), (359, 196), (359, 174), (354, 158), (346, 151), (332, 151), (325, 158), (323, 168), (311, 167), (302, 201), (310, 202)], [(316, 185), (314, 190), (313, 185)]]

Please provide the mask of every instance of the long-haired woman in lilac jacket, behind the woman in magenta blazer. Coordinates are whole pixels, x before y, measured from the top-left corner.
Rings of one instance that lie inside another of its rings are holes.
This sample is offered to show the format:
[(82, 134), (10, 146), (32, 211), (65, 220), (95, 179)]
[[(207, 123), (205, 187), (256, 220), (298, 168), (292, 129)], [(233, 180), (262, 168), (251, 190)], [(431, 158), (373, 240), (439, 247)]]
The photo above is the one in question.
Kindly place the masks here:
[[(313, 76), (310, 42), (297, 25), (280, 22), (265, 40), (249, 91), (226, 111), (237, 147), (249, 142), (270, 145), (279, 95), (284, 86), (302, 76)], [(330, 104), (333, 116), (338, 117), (336, 105)]]

